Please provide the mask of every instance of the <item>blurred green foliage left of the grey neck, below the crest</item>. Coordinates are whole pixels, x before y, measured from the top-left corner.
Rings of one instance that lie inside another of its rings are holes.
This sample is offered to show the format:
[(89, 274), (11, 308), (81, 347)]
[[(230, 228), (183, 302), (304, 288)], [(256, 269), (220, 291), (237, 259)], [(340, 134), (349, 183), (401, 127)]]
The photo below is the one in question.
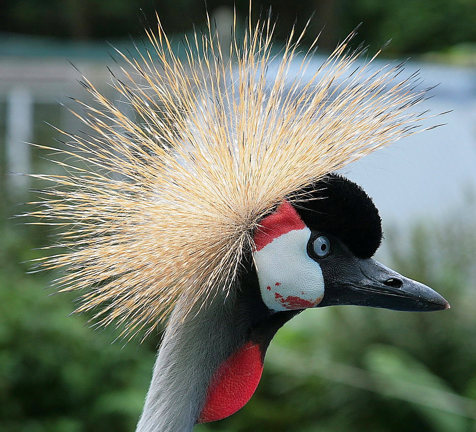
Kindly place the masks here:
[(67, 318), (73, 297), (48, 296), (52, 274), (20, 263), (39, 255), (36, 231), (1, 226), (0, 431), (133, 430), (153, 352)]

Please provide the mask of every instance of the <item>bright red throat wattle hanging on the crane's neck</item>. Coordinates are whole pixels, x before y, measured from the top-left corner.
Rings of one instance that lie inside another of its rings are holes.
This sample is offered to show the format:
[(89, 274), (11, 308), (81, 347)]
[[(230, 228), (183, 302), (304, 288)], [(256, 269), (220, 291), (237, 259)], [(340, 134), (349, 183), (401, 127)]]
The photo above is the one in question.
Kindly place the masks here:
[(260, 347), (246, 343), (213, 374), (197, 423), (220, 420), (242, 408), (258, 387), (263, 372)]

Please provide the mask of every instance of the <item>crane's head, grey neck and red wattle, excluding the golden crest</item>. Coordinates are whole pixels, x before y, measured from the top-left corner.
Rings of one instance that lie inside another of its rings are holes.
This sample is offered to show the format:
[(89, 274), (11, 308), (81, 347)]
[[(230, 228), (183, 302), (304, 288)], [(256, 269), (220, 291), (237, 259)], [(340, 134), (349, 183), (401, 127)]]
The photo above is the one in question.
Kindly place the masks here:
[[(260, 222), (232, 295), (167, 329), (138, 431), (190, 431), (240, 409), (260, 381), (272, 337), (306, 308), (449, 308), (433, 289), (371, 258), (380, 218), (358, 185), (328, 175), (305, 195), (309, 201), (283, 200)], [(174, 317), (181, 313), (179, 305)]]

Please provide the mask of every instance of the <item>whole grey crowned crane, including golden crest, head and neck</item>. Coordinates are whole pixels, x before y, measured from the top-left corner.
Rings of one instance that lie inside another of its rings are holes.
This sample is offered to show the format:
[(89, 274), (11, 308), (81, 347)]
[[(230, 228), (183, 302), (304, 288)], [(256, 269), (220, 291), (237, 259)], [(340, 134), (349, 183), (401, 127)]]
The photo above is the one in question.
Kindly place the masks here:
[(128, 115), (83, 77), (89, 129), (62, 132), (67, 173), (39, 176), (54, 185), (31, 213), (63, 226), (65, 252), (40, 266), (68, 270), (57, 282), (82, 290), (78, 312), (126, 337), (167, 322), (137, 431), (191, 431), (240, 409), (272, 337), (304, 309), (449, 308), (372, 259), (378, 210), (333, 174), (418, 130), (415, 76), (358, 63), (353, 34), (313, 69), (317, 40), (300, 55), (302, 34), (276, 55), (269, 19), (226, 49), (209, 22), (181, 57), (160, 23), (147, 34), (137, 59), (117, 51)]

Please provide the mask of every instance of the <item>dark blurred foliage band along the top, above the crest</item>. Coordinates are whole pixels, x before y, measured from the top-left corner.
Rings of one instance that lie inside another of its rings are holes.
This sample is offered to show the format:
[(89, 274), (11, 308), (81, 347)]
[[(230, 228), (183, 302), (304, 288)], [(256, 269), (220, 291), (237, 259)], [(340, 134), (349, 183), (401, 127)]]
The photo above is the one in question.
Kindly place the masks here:
[[(241, 18), (248, 14), (248, 0), (10, 0), (0, 3), (0, 30), (75, 40), (111, 39), (153, 26), (157, 10), (167, 32), (182, 32), (201, 25), (206, 8), (213, 12), (220, 6), (236, 6)], [(387, 51), (392, 54), (440, 51), (476, 41), (474, 0), (255, 0), (254, 18), (270, 6), (281, 39), (293, 25), (304, 28), (314, 13), (308, 36), (313, 39), (325, 27), (321, 48), (333, 48), (360, 22), (359, 40), (375, 49), (392, 38)]]

